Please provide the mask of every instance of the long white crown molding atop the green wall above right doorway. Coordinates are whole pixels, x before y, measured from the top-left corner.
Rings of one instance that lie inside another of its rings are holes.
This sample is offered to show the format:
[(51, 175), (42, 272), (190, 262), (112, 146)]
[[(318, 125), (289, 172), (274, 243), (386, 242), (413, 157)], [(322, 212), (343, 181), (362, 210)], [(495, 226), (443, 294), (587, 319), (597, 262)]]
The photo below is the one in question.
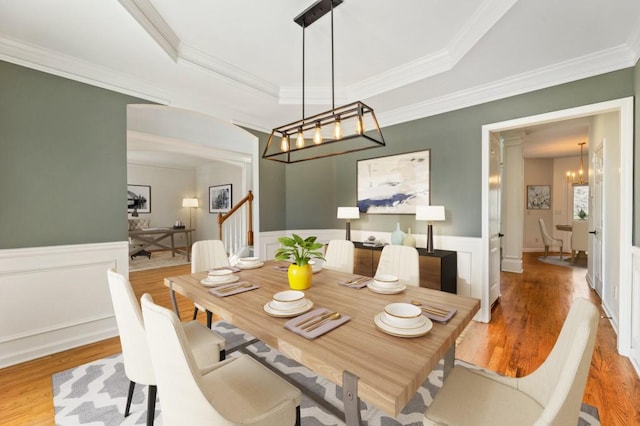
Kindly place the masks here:
[(628, 45), (585, 55), (504, 80), (462, 90), (429, 101), (407, 105), (395, 110), (378, 112), (381, 127), (405, 123), (449, 111), (508, 98), (534, 90), (557, 86), (583, 78), (593, 77), (620, 69), (633, 67), (637, 55)]

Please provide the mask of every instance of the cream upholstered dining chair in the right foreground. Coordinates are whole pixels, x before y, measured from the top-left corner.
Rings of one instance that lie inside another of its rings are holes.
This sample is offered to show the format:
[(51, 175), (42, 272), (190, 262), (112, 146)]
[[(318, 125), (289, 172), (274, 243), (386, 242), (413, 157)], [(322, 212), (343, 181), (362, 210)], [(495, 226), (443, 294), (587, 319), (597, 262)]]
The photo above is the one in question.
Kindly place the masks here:
[(600, 314), (576, 299), (558, 340), (537, 370), (521, 378), (456, 365), (425, 413), (425, 425), (575, 425)]

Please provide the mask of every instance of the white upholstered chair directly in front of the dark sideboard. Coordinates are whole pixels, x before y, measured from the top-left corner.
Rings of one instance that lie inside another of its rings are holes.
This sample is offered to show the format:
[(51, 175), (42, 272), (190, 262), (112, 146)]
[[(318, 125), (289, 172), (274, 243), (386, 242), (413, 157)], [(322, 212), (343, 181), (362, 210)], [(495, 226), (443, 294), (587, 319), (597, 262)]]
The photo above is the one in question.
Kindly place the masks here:
[(410, 246), (387, 245), (382, 249), (376, 275), (395, 275), (398, 281), (420, 286), (420, 257)]

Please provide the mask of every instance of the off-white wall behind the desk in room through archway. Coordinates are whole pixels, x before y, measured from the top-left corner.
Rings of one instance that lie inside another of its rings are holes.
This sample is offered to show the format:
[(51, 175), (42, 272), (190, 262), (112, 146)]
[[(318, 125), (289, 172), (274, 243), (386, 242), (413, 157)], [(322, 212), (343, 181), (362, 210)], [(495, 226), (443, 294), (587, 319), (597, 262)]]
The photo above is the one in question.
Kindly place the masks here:
[[(194, 169), (129, 163), (127, 183), (151, 186), (151, 213), (140, 213), (139, 216), (141, 219), (151, 219), (151, 227), (171, 227), (177, 220), (189, 226), (189, 209), (182, 207), (182, 199), (196, 195)], [(185, 243), (184, 235), (177, 234), (176, 246)]]

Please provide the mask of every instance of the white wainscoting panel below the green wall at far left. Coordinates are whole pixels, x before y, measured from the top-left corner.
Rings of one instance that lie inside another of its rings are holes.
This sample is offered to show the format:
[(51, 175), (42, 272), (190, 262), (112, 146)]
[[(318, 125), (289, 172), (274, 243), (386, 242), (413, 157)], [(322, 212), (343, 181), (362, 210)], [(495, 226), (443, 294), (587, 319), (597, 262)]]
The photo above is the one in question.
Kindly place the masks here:
[(108, 268), (128, 242), (0, 250), (0, 368), (118, 334)]

